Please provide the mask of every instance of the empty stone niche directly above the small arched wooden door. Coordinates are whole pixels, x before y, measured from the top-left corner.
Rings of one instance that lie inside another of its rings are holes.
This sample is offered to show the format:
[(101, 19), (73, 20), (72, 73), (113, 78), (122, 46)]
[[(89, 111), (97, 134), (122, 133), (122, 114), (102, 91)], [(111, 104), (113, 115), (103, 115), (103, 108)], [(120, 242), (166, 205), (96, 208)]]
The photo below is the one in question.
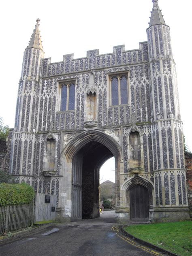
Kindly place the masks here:
[(130, 132), (129, 135), (129, 166), (141, 167), (141, 140), (139, 132)]

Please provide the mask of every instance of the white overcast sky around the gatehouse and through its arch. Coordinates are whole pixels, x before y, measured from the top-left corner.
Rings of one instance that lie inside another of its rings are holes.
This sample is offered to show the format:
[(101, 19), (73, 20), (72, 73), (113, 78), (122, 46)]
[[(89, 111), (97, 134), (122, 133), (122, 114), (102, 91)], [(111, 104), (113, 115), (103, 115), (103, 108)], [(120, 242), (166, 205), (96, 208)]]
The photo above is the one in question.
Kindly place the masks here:
[[(171, 29), (173, 57), (176, 62), (181, 118), (186, 144), (192, 150), (192, 50), (191, 0), (159, 0), (158, 4)], [(113, 52), (113, 46), (126, 50), (139, 48), (147, 41), (146, 29), (152, 10), (151, 0), (9, 0), (0, 4), (0, 116), (14, 126), (18, 82), (23, 52), (28, 46), (36, 18), (45, 58), (62, 61), (63, 55), (86, 56), (99, 49)], [(109, 167), (110, 173), (114, 173)], [(107, 170), (106, 178), (109, 178)], [(112, 175), (113, 176), (113, 175)], [(114, 181), (114, 179), (113, 179)]]

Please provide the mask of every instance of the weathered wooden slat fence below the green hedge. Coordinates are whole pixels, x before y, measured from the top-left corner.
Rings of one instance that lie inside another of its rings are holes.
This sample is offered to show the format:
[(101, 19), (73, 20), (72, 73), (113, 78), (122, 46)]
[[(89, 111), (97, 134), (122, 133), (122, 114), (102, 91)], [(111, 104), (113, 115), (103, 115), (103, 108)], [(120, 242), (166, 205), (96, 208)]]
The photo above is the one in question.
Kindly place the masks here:
[(33, 225), (34, 203), (0, 207), (0, 234)]

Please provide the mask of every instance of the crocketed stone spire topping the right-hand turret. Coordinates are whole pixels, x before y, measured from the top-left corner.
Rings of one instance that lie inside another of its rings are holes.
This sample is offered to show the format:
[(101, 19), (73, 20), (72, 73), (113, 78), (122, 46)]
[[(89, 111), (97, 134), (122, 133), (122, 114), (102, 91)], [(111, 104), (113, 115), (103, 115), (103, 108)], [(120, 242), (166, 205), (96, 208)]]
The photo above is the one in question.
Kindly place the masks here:
[(149, 27), (151, 27), (152, 25), (158, 25), (158, 24), (166, 25), (163, 19), (161, 10), (159, 9), (159, 6), (158, 6), (158, 0), (152, 0), (152, 2), (153, 2), (153, 9), (151, 11)]

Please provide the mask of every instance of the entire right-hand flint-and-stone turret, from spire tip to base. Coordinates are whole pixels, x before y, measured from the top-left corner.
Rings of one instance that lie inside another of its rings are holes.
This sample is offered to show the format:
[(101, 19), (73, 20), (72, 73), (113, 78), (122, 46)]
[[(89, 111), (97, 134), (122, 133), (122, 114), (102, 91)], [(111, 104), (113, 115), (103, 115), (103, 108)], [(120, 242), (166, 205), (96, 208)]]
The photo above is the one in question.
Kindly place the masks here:
[(179, 207), (185, 206), (187, 202), (177, 77), (171, 49), (170, 29), (164, 21), (158, 0), (152, 0), (152, 2), (153, 9), (149, 28), (147, 28), (147, 41), (156, 206)]

